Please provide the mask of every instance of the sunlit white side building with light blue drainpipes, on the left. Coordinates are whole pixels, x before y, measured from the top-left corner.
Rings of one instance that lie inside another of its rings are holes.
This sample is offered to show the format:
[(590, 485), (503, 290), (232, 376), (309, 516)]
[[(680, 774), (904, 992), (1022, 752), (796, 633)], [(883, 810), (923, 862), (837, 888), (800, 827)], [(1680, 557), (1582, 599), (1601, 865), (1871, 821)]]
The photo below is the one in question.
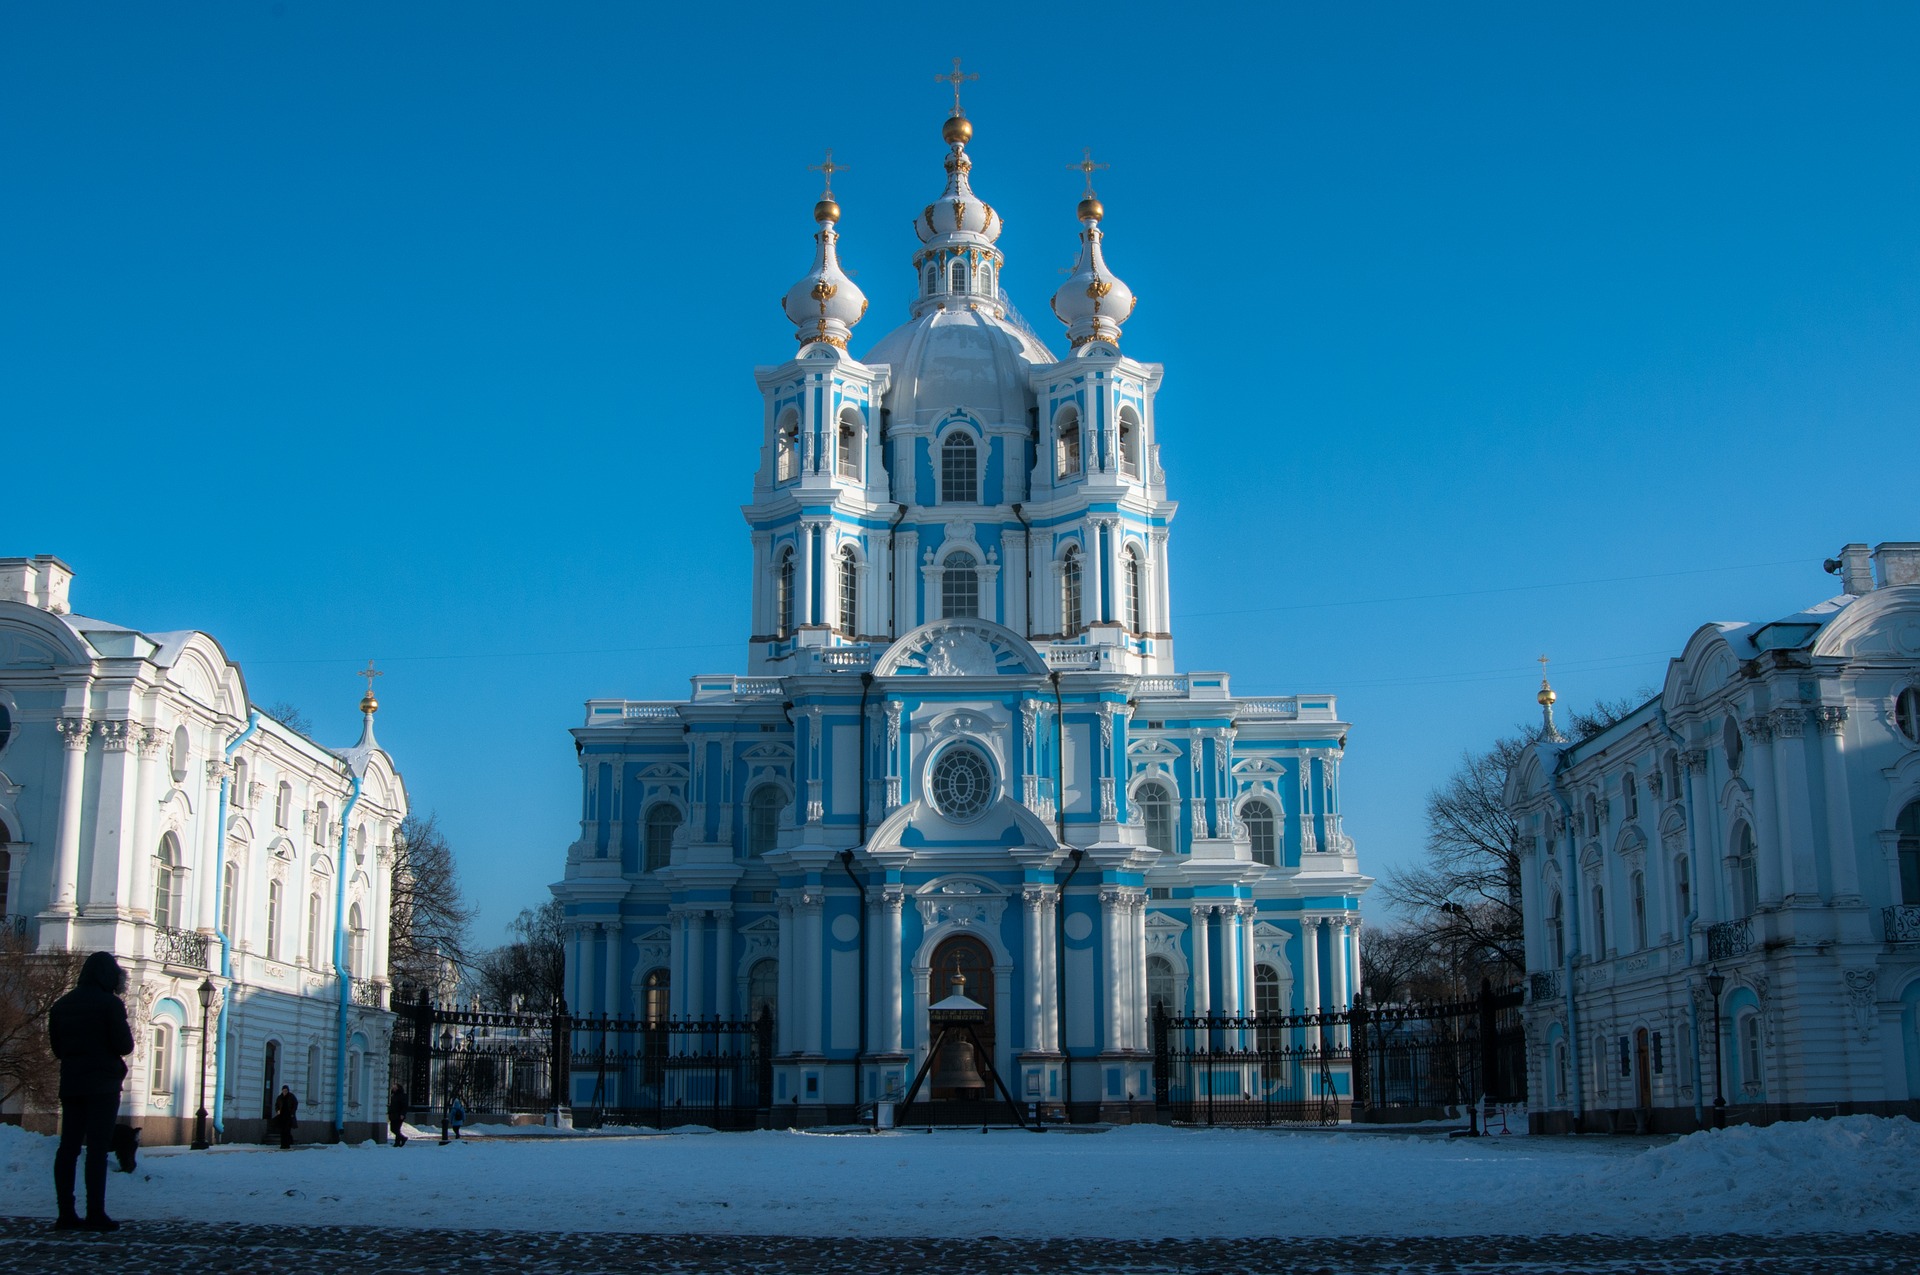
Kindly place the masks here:
[(121, 1119), (148, 1144), (192, 1139), (202, 1100), (209, 1137), (257, 1141), (280, 1085), (301, 1137), (380, 1137), (407, 795), (378, 705), (361, 701), (353, 747), (321, 747), (250, 707), (211, 636), (73, 614), (71, 580), (54, 557), (0, 559), (8, 931), (119, 956), (136, 1043)]

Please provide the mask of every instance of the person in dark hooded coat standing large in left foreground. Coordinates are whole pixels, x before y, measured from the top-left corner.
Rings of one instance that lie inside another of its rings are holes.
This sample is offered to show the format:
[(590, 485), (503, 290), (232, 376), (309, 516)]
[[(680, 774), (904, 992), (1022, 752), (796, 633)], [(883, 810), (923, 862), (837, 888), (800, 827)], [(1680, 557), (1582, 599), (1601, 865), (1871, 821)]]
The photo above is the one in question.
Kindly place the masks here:
[[(119, 1091), (132, 1052), (127, 1022), (127, 974), (113, 952), (94, 952), (81, 966), (81, 979), (54, 1002), (46, 1037), (60, 1058), (60, 1150), (54, 1152), (54, 1198), (65, 1231), (115, 1231), (108, 1217), (108, 1152)], [(86, 1146), (86, 1217), (73, 1210), (73, 1171)]]

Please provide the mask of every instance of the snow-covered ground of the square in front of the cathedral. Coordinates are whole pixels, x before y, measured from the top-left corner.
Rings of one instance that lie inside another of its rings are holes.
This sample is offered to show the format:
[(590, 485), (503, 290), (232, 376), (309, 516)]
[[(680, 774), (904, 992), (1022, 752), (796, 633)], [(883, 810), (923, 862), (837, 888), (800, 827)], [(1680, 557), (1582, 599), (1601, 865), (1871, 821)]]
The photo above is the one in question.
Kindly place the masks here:
[[(54, 1141), (0, 1125), (0, 1214), (52, 1214)], [(403, 1148), (184, 1146), (113, 1173), (132, 1219), (822, 1237), (1173, 1239), (1920, 1231), (1920, 1125), (1632, 1139), (1379, 1133), (670, 1133)]]

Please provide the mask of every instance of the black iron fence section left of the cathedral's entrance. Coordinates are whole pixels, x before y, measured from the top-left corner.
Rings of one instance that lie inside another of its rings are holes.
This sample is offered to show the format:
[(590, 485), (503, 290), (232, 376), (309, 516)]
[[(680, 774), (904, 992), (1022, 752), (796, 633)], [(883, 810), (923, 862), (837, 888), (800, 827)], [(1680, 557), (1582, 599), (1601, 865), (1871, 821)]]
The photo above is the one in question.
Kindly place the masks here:
[(622, 1020), (461, 1010), (422, 998), (394, 1023), (392, 1073), (413, 1110), (459, 1098), (468, 1119), (751, 1129), (772, 1102), (774, 1018)]

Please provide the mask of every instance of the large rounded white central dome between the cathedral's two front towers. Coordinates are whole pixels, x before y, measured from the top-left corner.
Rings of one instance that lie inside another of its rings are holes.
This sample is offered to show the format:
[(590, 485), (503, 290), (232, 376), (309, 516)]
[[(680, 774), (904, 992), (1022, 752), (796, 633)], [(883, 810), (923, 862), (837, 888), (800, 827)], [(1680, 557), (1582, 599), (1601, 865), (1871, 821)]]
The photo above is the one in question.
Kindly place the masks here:
[(899, 424), (931, 422), (964, 407), (987, 424), (1027, 421), (1027, 371), (1054, 355), (983, 309), (929, 309), (879, 340), (862, 359), (893, 369), (883, 399)]

